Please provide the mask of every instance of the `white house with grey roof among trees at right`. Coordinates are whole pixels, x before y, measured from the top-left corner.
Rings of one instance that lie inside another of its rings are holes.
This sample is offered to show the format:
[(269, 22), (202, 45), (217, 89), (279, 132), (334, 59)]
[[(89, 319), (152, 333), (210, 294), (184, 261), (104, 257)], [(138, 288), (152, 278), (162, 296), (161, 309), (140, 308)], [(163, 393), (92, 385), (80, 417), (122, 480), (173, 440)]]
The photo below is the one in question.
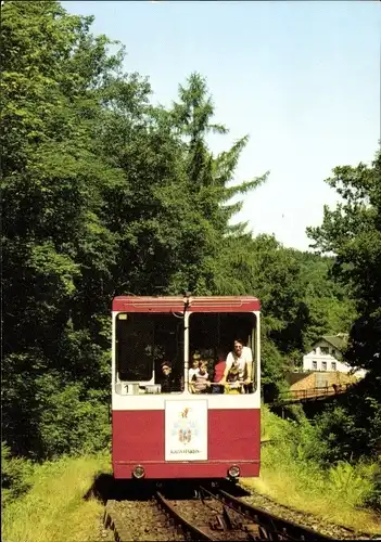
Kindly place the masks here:
[[(303, 356), (303, 371), (353, 372), (353, 367), (342, 361), (342, 352), (346, 347), (347, 338), (348, 336), (344, 333), (320, 337), (313, 345), (313, 350)], [(359, 369), (354, 372), (354, 375), (363, 378), (366, 375), (366, 371)]]

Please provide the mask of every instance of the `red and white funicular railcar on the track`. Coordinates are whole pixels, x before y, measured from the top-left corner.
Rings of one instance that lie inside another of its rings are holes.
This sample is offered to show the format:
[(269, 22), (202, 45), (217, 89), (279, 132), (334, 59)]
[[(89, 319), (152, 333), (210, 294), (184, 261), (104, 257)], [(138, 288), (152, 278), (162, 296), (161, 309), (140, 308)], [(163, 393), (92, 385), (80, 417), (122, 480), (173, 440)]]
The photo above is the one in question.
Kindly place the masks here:
[[(255, 297), (115, 297), (112, 338), (112, 461), (115, 478), (258, 476), (261, 453), (259, 300)], [(195, 393), (192, 357), (226, 354), (242, 337), (252, 384)], [(173, 367), (161, 387), (163, 361)], [(192, 392), (193, 391), (193, 392)]]

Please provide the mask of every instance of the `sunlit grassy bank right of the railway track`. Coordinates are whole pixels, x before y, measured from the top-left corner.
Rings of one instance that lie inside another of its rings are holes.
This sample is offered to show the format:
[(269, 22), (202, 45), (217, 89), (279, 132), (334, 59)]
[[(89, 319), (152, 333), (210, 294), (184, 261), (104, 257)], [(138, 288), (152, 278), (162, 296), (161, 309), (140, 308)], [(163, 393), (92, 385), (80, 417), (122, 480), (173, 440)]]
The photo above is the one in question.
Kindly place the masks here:
[(312, 513), (327, 521), (380, 533), (380, 517), (361, 508), (371, 489), (370, 478), (376, 465), (352, 466), (343, 462), (322, 470), (301, 454), (297, 456), (297, 452), (295, 454), (295, 447), (288, 439), (290, 422), (280, 420), (265, 408), (263, 427), (262, 438), (277, 442), (262, 450), (259, 478), (245, 478), (243, 485), (279, 504)]

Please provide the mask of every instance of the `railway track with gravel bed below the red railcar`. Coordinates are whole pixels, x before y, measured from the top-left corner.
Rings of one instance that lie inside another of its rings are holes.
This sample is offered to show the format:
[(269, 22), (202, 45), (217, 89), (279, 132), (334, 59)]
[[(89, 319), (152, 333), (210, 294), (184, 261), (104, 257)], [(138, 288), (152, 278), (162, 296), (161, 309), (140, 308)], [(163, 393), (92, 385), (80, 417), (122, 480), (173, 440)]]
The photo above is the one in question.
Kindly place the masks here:
[(114, 530), (116, 542), (333, 540), (256, 508), (223, 489), (203, 486), (189, 499), (163, 490), (147, 501), (109, 501), (104, 524)]

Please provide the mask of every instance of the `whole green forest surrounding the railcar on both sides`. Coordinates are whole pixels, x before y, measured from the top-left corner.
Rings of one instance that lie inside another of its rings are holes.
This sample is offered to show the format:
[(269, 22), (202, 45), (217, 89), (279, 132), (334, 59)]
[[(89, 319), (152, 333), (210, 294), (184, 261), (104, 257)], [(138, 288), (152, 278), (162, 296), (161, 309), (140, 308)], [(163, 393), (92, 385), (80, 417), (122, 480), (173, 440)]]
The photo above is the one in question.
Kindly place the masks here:
[[(249, 136), (214, 154), (208, 136), (228, 127), (206, 78), (155, 105), (125, 48), (91, 24), (53, 0), (1, 9), (3, 459), (110, 447), (111, 300), (188, 291), (262, 300), (263, 383), (278, 389), (321, 334), (350, 333), (346, 359), (368, 373), (319, 420), (319, 461), (376, 461), (380, 151), (326, 180), (342, 203), (308, 229), (314, 253), (231, 225), (270, 175), (234, 182)], [(3, 486), (14, 479), (5, 468)]]

